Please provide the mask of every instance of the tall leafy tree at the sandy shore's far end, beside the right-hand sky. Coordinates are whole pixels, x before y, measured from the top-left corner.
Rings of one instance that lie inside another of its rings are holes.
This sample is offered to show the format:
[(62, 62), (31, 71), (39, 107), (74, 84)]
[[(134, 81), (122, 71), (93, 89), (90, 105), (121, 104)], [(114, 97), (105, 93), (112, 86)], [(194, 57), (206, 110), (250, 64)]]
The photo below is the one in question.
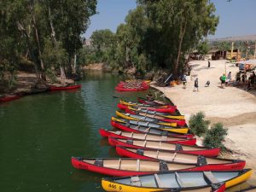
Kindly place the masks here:
[[(202, 37), (212, 34), (218, 25), (215, 7), (207, 0), (139, 0), (149, 20), (148, 32), (155, 34), (158, 49), (165, 50), (158, 61), (172, 66), (177, 74), (181, 58), (195, 47)], [(151, 36), (153, 37), (153, 36)], [(157, 51), (152, 51), (152, 55)], [(174, 65), (172, 64), (174, 63)]]

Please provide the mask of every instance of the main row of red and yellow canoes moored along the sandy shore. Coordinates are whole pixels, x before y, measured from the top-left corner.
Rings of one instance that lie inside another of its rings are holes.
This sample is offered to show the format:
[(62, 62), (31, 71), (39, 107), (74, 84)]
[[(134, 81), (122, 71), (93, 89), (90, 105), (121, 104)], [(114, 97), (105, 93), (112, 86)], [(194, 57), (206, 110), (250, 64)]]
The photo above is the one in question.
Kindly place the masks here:
[(99, 133), (125, 158), (72, 158), (77, 169), (113, 176), (102, 178), (103, 189), (222, 192), (251, 176), (252, 170), (244, 169), (245, 160), (216, 158), (219, 148), (196, 146), (176, 110), (157, 111), (176, 107), (127, 101), (120, 105), (125, 112), (116, 111), (118, 118), (112, 117), (115, 130), (101, 128)]

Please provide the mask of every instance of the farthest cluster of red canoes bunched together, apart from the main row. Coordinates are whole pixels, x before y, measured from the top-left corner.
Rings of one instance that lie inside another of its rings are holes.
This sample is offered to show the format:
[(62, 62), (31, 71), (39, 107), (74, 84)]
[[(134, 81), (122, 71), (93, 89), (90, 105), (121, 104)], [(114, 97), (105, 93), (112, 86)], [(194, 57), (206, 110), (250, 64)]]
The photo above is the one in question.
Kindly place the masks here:
[(115, 87), (117, 91), (138, 91), (148, 90), (148, 82), (143, 80), (120, 81)]

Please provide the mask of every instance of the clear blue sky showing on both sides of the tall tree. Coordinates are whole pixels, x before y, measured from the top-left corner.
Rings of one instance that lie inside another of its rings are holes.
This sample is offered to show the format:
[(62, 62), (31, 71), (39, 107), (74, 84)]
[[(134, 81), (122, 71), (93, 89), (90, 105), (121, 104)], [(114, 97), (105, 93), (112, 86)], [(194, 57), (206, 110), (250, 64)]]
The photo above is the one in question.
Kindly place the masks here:
[[(256, 0), (211, 0), (216, 7), (219, 23), (215, 35), (209, 38), (228, 38), (256, 35)], [(136, 0), (98, 0), (97, 15), (90, 18), (85, 38), (100, 29), (116, 31), (125, 22), (129, 10), (136, 8)]]

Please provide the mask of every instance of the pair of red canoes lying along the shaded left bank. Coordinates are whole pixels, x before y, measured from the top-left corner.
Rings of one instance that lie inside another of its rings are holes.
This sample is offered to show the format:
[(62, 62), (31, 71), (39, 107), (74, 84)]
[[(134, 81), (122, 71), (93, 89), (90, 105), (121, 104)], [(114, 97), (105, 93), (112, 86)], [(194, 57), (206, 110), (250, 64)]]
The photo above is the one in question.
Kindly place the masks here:
[[(50, 91), (55, 91), (55, 90), (74, 90), (74, 89), (79, 89), (81, 88), (81, 84), (75, 84), (75, 85), (68, 85), (68, 86), (50, 86), (49, 90)], [(2, 96), (0, 97), (0, 102), (10, 102), (16, 99), (19, 99), (21, 96), (24, 96), (23, 94), (15, 94), (15, 95), (7, 95), (7, 96)]]

